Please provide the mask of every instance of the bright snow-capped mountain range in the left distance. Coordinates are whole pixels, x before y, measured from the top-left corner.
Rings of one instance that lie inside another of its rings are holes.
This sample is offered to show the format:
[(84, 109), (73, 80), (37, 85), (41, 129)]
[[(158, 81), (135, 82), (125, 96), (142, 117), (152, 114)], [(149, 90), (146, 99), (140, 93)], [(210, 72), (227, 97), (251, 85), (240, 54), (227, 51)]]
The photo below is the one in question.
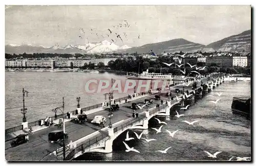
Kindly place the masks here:
[(8, 44), (5, 46), (6, 53), (106, 53), (120, 49), (130, 48), (127, 45), (119, 47), (118, 45), (104, 40), (100, 43), (87, 43), (84, 45), (66, 45), (59, 46), (55, 44), (51, 47), (32, 46), (32, 45), (15, 45)]

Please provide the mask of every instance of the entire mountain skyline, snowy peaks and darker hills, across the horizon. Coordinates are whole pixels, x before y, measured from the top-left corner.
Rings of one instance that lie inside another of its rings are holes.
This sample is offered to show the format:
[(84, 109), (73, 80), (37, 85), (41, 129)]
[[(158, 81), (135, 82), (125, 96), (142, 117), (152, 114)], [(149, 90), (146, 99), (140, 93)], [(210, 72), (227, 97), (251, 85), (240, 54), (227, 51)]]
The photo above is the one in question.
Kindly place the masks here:
[(127, 45), (118, 46), (109, 41), (100, 43), (88, 43), (84, 45), (66, 45), (60, 47), (33, 46), (33, 45), (13, 45), (5, 46), (5, 52), (10, 54), (19, 53), (174, 53), (174, 52), (196, 52), (196, 51), (250, 51), (251, 50), (251, 30), (238, 35), (229, 36), (222, 40), (203, 45), (187, 41), (185, 39), (173, 39), (169, 41), (145, 44), (139, 47), (129, 47)]

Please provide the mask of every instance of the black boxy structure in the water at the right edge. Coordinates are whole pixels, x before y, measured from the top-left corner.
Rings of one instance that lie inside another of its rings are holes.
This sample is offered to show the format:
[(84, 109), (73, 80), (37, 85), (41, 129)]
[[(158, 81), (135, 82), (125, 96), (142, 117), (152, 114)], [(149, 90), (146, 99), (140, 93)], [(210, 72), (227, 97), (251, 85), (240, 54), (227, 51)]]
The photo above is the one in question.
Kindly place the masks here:
[(239, 114), (250, 119), (251, 98), (250, 97), (233, 97), (231, 109), (233, 114)]

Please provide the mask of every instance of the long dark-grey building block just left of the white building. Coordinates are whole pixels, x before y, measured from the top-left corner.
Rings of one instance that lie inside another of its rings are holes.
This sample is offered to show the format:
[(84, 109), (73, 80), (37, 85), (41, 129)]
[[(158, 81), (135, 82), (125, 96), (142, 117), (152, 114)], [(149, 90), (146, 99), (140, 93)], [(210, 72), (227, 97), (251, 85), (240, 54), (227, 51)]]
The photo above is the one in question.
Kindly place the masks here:
[(207, 57), (205, 64), (210, 65), (212, 63), (217, 64), (220, 67), (233, 67), (233, 58), (230, 56), (226, 57)]

